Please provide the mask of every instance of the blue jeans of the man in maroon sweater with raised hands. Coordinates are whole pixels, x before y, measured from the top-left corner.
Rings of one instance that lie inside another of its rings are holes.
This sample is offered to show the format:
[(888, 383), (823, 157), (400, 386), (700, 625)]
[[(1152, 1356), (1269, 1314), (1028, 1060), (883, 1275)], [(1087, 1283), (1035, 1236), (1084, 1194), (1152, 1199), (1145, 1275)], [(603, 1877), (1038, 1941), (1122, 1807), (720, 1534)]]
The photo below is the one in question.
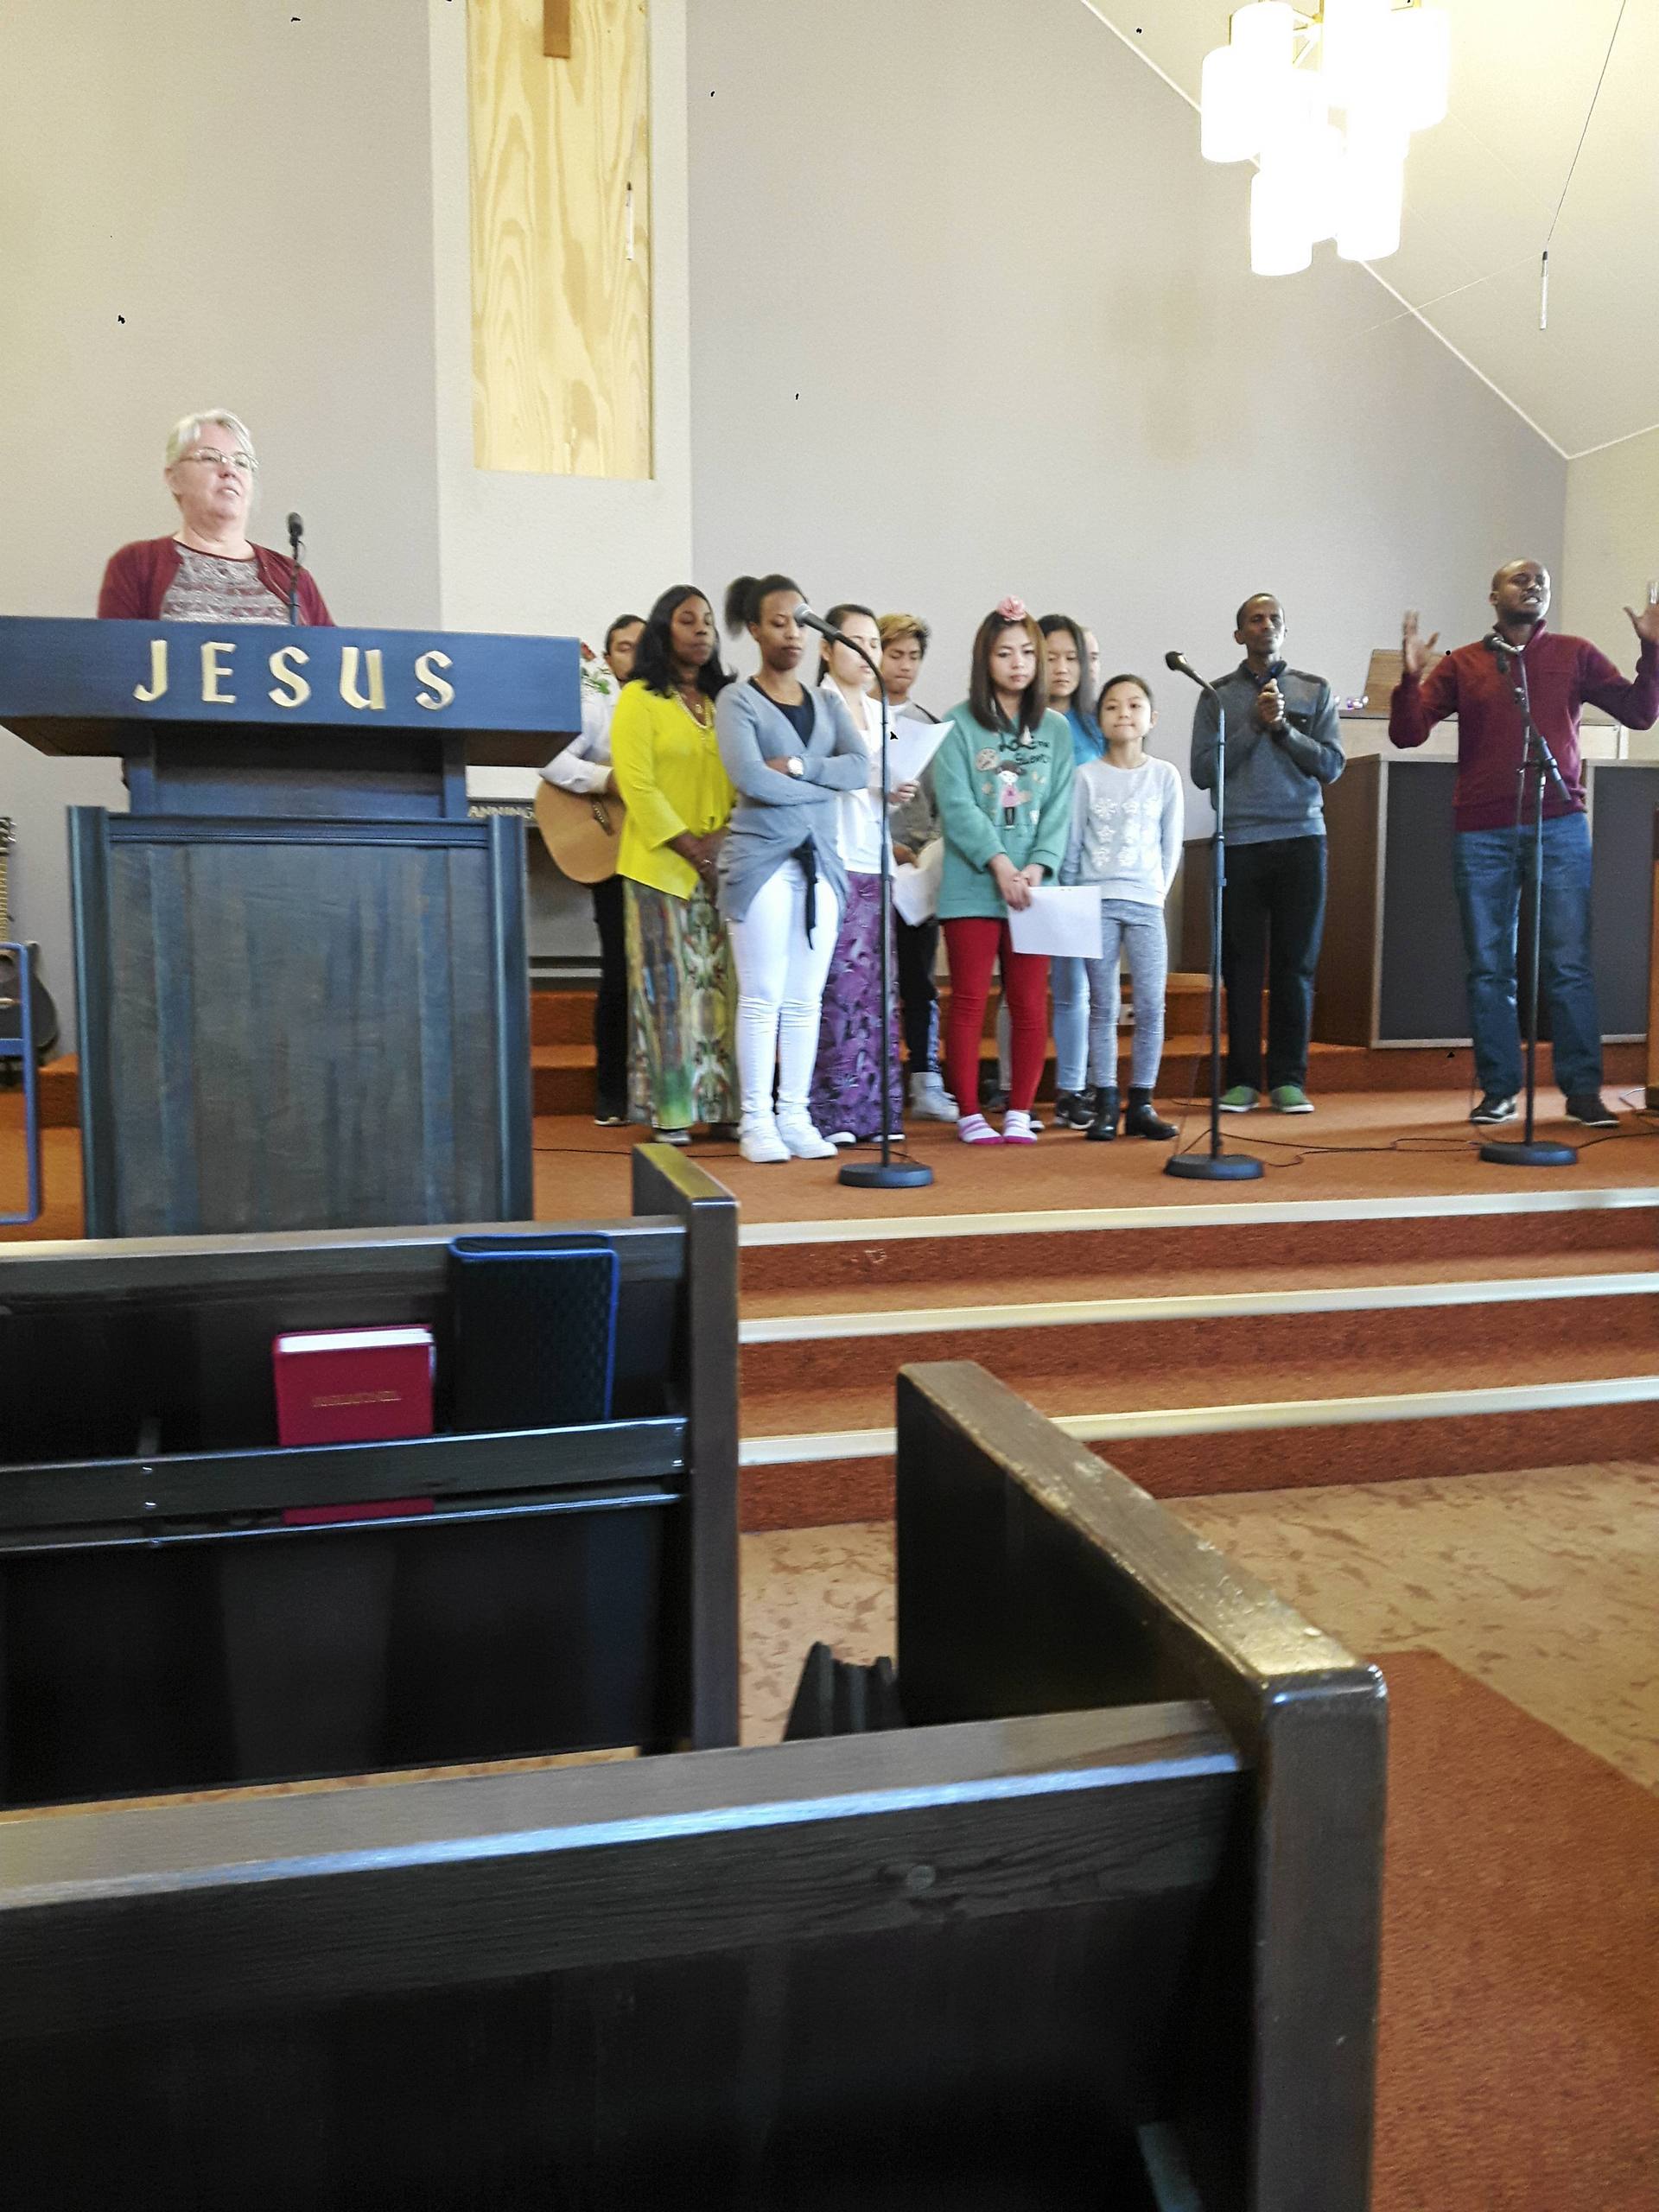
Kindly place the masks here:
[[(1469, 1029), (1482, 1091), (1522, 1086), (1515, 938), (1522, 883), (1531, 880), (1533, 830), (1460, 830), (1458, 911), (1469, 960)], [(1544, 929), (1540, 1002), (1548, 1006), (1555, 1082), (1575, 1097), (1601, 1088), (1601, 1018), (1590, 969), (1590, 825), (1582, 814), (1544, 823)]]

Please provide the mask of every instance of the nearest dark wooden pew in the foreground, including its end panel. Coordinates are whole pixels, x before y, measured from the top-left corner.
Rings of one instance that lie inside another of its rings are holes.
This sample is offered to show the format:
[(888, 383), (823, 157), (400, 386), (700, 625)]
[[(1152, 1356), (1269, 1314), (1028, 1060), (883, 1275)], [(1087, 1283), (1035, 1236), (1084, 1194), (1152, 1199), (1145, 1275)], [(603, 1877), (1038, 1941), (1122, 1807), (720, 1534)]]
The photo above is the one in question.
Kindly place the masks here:
[(973, 1367), (898, 1480), (922, 1725), (0, 1818), (7, 2197), (1363, 2212), (1378, 1677)]

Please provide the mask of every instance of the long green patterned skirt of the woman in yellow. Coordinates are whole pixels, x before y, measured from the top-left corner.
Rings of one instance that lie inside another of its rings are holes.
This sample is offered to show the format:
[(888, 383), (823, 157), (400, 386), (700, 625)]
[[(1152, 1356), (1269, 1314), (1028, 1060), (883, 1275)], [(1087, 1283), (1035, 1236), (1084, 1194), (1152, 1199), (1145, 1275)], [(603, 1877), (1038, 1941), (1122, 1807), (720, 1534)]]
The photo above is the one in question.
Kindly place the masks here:
[(737, 1121), (737, 967), (714, 900), (628, 883), (628, 1119)]

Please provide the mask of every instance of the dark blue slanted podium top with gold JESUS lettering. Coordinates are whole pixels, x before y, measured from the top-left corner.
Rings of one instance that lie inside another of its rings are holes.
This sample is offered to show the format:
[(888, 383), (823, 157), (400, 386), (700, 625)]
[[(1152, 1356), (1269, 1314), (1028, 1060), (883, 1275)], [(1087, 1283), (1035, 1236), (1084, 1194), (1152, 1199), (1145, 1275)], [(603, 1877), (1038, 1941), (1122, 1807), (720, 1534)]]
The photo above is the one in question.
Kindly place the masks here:
[(40, 752), (133, 754), (157, 728), (420, 732), (540, 765), (582, 728), (573, 637), (288, 624), (0, 619), (0, 723)]

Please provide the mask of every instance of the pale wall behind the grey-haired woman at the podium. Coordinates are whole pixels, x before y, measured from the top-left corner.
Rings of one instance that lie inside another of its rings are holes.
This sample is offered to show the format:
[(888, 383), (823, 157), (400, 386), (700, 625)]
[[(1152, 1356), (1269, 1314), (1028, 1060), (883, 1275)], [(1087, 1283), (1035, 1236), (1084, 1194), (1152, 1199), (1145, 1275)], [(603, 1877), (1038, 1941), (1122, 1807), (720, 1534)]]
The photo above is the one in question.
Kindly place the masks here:
[[(11, 0), (0, 611), (91, 615), (115, 546), (177, 520), (173, 420), (223, 405), (259, 440), (257, 535), (299, 507), (341, 622), (434, 622), (429, 201), (409, 0)], [(0, 732), (18, 925), (66, 1011), (75, 803), (122, 805), (117, 768)]]

